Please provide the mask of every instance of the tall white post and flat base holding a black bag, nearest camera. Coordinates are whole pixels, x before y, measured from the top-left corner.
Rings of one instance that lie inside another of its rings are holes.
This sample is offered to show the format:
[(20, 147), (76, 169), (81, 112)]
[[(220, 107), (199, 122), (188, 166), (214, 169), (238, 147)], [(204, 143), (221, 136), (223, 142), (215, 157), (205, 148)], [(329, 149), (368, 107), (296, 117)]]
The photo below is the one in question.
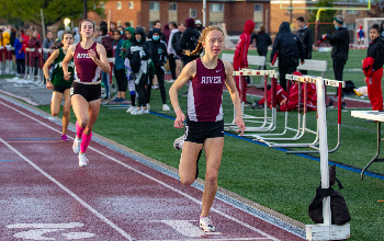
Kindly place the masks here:
[[(323, 78), (316, 79), (317, 114), (319, 131), (319, 153), (321, 171), (321, 188), (329, 188), (327, 116), (325, 103), (325, 82)], [(350, 223), (342, 226), (331, 225), (330, 196), (323, 200), (324, 223), (306, 225), (305, 232), (308, 240), (345, 240), (350, 238)]]

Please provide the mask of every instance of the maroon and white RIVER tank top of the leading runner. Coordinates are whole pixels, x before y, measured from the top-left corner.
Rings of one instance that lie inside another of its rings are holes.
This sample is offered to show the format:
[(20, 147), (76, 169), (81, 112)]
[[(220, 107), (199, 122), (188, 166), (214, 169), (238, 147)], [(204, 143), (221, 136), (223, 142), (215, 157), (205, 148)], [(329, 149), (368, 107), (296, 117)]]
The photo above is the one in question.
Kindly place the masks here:
[(223, 87), (225, 68), (222, 59), (217, 59), (214, 69), (204, 67), (196, 59), (196, 74), (189, 82), (188, 117), (192, 122), (219, 122), (223, 119)]

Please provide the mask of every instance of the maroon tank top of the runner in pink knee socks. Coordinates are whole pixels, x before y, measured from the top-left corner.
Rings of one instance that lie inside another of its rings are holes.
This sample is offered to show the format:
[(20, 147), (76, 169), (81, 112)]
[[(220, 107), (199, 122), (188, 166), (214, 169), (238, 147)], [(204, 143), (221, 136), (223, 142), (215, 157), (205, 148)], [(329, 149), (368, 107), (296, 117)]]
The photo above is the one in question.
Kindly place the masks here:
[[(93, 49), (99, 58), (97, 51), (97, 44), (93, 43), (89, 49)], [(89, 49), (83, 49), (78, 43), (76, 45), (74, 61), (75, 61), (75, 81), (76, 82), (97, 82), (100, 80), (100, 68), (88, 55)]]

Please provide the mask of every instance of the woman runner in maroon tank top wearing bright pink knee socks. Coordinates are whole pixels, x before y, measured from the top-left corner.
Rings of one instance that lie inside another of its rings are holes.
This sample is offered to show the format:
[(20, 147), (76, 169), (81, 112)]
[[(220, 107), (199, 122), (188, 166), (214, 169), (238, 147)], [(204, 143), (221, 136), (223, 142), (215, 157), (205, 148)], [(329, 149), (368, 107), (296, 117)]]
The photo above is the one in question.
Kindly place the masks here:
[(80, 23), (81, 42), (71, 45), (63, 60), (64, 78), (69, 80), (68, 64), (74, 58), (75, 81), (70, 89), (72, 108), (77, 118), (74, 152), (79, 153), (79, 167), (86, 167), (86, 150), (92, 138), (92, 127), (99, 116), (101, 103), (100, 69), (106, 73), (111, 67), (105, 48), (93, 41), (94, 25), (90, 20)]

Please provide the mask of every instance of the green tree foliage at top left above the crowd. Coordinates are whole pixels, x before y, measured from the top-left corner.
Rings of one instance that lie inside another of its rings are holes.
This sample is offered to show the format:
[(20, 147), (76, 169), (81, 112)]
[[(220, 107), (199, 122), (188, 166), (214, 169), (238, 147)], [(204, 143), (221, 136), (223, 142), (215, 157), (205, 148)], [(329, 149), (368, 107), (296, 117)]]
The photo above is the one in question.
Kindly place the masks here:
[[(56, 23), (64, 18), (82, 19), (84, 0), (3, 0), (0, 1), (0, 19), (7, 21), (27, 21), (42, 25), (41, 9), (44, 12), (46, 25)], [(88, 9), (103, 15), (101, 2), (106, 0), (87, 0)]]

